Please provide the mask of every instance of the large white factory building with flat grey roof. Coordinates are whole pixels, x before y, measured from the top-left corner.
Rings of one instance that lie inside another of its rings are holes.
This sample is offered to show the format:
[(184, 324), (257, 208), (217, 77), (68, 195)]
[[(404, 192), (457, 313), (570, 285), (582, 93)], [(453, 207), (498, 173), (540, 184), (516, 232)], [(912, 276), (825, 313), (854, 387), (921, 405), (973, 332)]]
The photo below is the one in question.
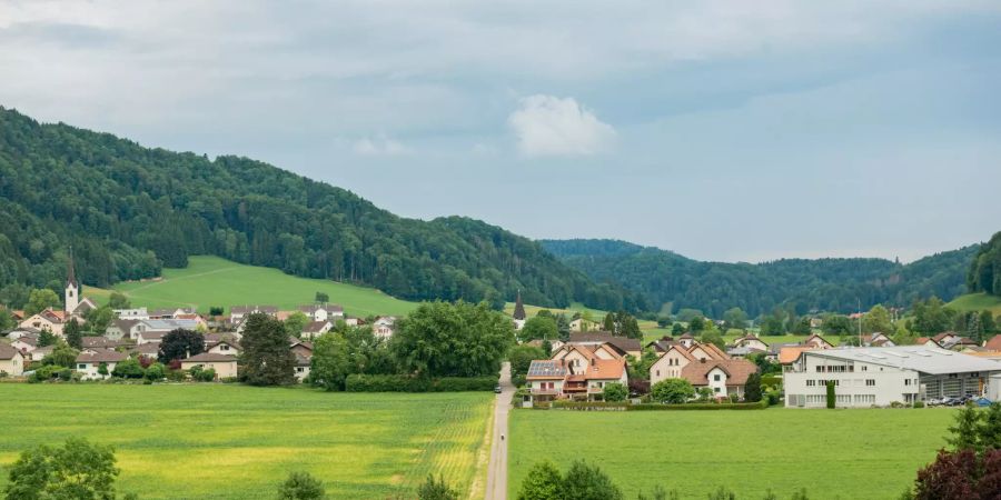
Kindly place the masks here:
[(869, 408), (931, 398), (1001, 396), (1001, 362), (930, 346), (803, 351), (783, 373), (787, 408)]

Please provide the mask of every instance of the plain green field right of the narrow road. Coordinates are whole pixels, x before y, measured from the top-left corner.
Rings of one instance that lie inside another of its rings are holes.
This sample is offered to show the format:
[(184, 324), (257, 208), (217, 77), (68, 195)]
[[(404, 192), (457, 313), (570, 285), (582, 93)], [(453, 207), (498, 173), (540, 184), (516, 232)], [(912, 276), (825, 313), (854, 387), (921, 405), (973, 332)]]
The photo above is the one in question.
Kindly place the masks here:
[(508, 497), (549, 459), (598, 464), (636, 498), (660, 484), (683, 499), (724, 486), (740, 499), (806, 488), (811, 499), (896, 498), (945, 446), (952, 409), (512, 414)]

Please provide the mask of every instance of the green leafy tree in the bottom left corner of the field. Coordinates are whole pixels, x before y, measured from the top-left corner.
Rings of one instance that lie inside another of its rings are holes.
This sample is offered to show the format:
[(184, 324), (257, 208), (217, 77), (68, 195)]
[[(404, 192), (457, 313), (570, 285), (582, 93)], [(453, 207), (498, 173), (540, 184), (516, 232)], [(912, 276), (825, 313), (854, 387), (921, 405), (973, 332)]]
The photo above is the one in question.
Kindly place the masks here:
[(8, 500), (112, 500), (118, 472), (111, 447), (70, 438), (62, 447), (23, 451), (4, 491)]

